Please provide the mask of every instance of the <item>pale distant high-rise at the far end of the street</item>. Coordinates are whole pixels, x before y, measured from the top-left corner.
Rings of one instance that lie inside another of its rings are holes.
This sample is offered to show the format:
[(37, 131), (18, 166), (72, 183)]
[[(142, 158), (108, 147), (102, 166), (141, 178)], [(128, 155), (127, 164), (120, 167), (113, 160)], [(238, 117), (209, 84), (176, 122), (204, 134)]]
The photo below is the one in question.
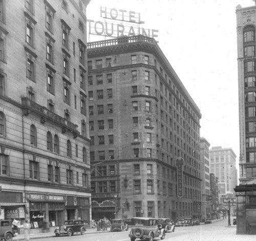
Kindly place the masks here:
[(226, 192), (234, 195), (237, 185), (236, 154), (231, 148), (222, 147), (212, 147), (209, 154), (210, 173), (218, 178), (219, 183), (226, 183)]

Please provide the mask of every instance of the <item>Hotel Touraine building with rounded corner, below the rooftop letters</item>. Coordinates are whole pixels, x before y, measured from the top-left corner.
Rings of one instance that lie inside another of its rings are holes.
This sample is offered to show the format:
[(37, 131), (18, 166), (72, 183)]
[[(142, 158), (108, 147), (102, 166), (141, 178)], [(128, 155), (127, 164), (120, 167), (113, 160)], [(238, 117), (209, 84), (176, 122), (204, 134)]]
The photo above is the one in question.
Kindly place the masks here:
[(197, 218), (201, 113), (156, 41), (88, 43), (88, 82), (92, 218)]

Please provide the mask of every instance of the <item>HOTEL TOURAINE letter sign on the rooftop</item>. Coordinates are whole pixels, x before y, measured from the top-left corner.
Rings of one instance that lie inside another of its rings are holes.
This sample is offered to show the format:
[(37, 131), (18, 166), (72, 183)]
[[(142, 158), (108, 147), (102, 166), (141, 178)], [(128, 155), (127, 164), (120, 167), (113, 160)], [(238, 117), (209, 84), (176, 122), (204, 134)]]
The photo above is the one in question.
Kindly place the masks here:
[[(87, 19), (89, 35), (94, 34), (113, 38), (135, 35), (144, 35), (151, 38), (158, 37), (156, 34), (158, 30), (144, 29), (140, 26), (142, 23), (145, 23), (141, 21), (140, 13), (100, 7), (100, 17), (110, 21), (105, 20), (101, 22)], [(116, 23), (116, 21), (119, 21), (119, 23)], [(126, 24), (123, 22), (126, 22)]]

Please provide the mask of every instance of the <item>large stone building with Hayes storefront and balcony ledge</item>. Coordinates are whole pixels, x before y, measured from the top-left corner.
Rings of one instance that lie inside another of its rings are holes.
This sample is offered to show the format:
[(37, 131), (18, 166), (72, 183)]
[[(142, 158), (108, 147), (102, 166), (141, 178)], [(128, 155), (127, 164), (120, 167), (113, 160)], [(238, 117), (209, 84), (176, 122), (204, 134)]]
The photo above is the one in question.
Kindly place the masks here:
[(90, 224), (89, 1), (0, 1), (1, 219)]

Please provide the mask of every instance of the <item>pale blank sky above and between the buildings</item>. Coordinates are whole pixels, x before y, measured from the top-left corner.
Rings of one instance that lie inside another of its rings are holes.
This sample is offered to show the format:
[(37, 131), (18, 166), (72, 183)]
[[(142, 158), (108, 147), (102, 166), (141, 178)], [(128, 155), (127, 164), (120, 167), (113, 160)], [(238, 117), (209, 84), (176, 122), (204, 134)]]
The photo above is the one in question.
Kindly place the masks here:
[[(87, 18), (104, 22), (100, 7), (134, 11), (144, 21), (142, 28), (158, 30), (160, 49), (201, 111), (201, 137), (210, 148), (232, 148), (238, 168), (236, 7), (254, 4), (252, 0), (91, 0)], [(88, 42), (105, 39), (88, 31)]]

